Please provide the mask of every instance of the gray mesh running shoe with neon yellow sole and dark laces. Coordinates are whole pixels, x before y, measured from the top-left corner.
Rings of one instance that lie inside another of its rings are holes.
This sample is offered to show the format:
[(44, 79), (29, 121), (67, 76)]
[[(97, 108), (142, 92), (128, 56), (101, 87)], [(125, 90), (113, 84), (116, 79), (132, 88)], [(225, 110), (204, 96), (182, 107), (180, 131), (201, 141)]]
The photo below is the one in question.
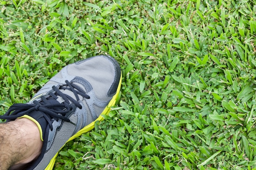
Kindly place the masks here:
[(27, 104), (13, 104), (0, 119), (34, 121), (43, 141), (40, 156), (28, 170), (52, 170), (58, 151), (94, 128), (114, 106), (121, 87), (116, 60), (99, 55), (65, 66)]

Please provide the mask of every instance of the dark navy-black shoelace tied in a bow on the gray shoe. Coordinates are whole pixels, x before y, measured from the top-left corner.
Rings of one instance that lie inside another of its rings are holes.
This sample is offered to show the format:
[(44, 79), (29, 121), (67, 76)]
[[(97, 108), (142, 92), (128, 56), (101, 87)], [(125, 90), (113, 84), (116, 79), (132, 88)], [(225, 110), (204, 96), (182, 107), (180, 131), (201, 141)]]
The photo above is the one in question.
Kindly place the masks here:
[[(49, 123), (51, 130), (53, 129), (51, 118), (55, 120), (61, 119), (63, 121), (72, 123), (70, 119), (65, 117), (65, 115), (69, 113), (70, 110), (72, 110), (70, 102), (72, 102), (75, 106), (81, 109), (82, 106), (81, 104), (79, 104), (78, 95), (81, 95), (86, 99), (90, 99), (90, 96), (86, 95), (85, 92), (79, 86), (71, 84), (67, 80), (65, 82), (66, 85), (60, 86), (59, 88), (57, 88), (56, 86), (52, 86), (52, 89), (55, 91), (55, 93), (50, 92), (49, 94), (47, 94), (47, 97), (41, 96), (40, 102), (34, 100), (33, 104), (13, 104), (9, 108), (7, 113), (0, 116), (0, 119), (12, 120), (23, 115), (28, 115), (32, 111), (36, 110), (40, 111), (43, 114), (43, 117), (45, 117), (46, 121)], [(76, 99), (73, 99), (69, 95), (62, 93), (60, 90), (72, 91)], [(58, 96), (62, 97), (65, 102), (57, 102), (56, 99), (58, 99)]]

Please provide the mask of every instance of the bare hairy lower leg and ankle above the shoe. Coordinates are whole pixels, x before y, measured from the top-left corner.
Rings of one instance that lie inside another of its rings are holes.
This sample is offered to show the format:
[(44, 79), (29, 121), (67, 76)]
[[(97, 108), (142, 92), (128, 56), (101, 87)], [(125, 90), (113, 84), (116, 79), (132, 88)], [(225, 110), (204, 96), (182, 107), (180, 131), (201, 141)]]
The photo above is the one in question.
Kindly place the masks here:
[(40, 155), (43, 141), (36, 124), (20, 118), (0, 124), (0, 170), (18, 168)]

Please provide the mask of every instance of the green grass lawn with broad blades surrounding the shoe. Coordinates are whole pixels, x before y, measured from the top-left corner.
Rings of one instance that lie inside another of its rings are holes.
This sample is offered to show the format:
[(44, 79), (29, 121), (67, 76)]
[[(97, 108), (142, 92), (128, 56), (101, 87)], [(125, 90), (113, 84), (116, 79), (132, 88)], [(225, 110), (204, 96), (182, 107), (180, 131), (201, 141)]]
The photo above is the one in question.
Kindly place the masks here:
[(256, 170), (256, 0), (0, 0), (0, 111), (109, 54), (120, 102), (55, 170)]

